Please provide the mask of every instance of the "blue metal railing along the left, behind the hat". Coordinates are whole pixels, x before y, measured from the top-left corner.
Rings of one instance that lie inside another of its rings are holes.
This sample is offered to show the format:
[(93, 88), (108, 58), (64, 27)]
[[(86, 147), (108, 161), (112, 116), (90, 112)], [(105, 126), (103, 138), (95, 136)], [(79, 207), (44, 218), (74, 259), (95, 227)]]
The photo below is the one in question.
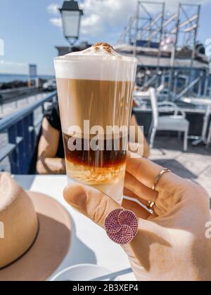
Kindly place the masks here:
[[(44, 104), (55, 100), (54, 91), (46, 98), (0, 120), (0, 134), (6, 133), (8, 143), (0, 149), (0, 163), (8, 157), (11, 173), (27, 174), (37, 146), (36, 129), (41, 126)], [(41, 107), (41, 116), (34, 122), (34, 112)], [(1, 137), (1, 136), (0, 136)]]

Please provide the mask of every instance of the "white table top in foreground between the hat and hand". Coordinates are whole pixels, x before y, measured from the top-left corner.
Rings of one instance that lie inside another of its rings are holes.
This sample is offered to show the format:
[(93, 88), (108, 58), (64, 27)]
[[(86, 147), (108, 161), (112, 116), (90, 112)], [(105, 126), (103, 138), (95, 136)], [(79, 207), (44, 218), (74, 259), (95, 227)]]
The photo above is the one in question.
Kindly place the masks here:
[[(41, 192), (58, 200), (70, 212), (72, 217), (72, 237), (68, 255), (55, 273), (72, 265), (91, 263), (116, 272), (130, 268), (127, 255), (122, 248), (111, 242), (106, 232), (88, 218), (73, 210), (63, 199), (63, 189), (68, 181), (66, 176), (14, 176), (15, 180), (25, 189)], [(123, 275), (121, 280), (134, 281), (133, 273)]]

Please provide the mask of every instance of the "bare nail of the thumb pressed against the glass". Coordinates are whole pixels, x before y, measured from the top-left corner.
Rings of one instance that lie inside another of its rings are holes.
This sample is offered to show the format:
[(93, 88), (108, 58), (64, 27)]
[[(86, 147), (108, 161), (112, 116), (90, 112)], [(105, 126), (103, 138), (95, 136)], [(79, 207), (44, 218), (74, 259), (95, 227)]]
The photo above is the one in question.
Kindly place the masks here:
[(68, 204), (77, 208), (82, 208), (87, 201), (87, 192), (82, 185), (68, 185), (63, 196)]

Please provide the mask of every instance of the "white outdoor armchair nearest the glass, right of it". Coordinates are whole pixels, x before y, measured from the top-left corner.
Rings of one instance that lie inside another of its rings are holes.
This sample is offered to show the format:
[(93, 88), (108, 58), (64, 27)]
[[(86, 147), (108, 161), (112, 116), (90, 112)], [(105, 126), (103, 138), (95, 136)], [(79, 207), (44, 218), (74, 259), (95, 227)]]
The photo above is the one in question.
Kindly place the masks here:
[[(188, 150), (188, 132), (189, 132), (189, 122), (186, 120), (186, 114), (174, 103), (165, 101), (163, 103), (158, 103), (155, 89), (150, 89), (151, 94), (151, 105), (153, 110), (153, 122), (151, 124), (151, 139), (150, 144), (153, 148), (155, 135), (157, 131), (178, 131), (179, 134), (184, 132), (184, 151)], [(159, 112), (162, 110), (174, 110), (174, 115), (172, 116), (160, 116)], [(180, 115), (179, 115), (180, 113)]]

